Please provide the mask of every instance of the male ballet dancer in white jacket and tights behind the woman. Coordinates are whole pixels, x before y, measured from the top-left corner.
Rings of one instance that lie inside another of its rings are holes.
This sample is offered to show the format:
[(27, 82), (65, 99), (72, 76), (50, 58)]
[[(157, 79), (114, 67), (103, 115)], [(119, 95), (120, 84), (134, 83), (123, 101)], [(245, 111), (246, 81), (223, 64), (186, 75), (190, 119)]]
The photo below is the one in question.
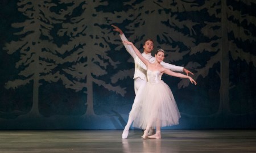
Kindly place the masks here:
[[(121, 37), (122, 41), (128, 41), (127, 38), (125, 37), (125, 34), (122, 32), (122, 30), (120, 28), (118, 28), (115, 25), (112, 25), (112, 27), (114, 27), (114, 29), (113, 29), (114, 31), (119, 32), (119, 36)], [(133, 107), (131, 108), (133, 110), (135, 107), (138, 106), (139, 99), (140, 99), (139, 93), (142, 91), (144, 85), (147, 82), (146, 65), (144, 65), (144, 63), (141, 61), (141, 59), (138, 58), (138, 56), (135, 54), (131, 45), (125, 45), (125, 48), (126, 48), (127, 52), (134, 58), (134, 63), (135, 63), (135, 71), (134, 71), (133, 79), (134, 79), (134, 91), (135, 91), (136, 98), (134, 99)], [(143, 49), (144, 50), (143, 50), (142, 56), (144, 58), (146, 58), (148, 61), (150, 61), (151, 63), (155, 62), (155, 57), (151, 56), (151, 51), (154, 49), (154, 42), (151, 39), (147, 39), (146, 41), (144, 41)], [(179, 71), (179, 72), (184, 71), (184, 73), (186, 73), (187, 75), (189, 73), (193, 75), (193, 73), (191, 73), (191, 71), (185, 69), (184, 67), (171, 65), (166, 62), (161, 62), (160, 64), (163, 67), (170, 69), (172, 71)], [(129, 115), (127, 124), (122, 133), (123, 139), (127, 138), (128, 134), (129, 134), (130, 126), (133, 123), (134, 118), (135, 118), (135, 116)], [(152, 135), (152, 134), (154, 134), (154, 131), (151, 128), (148, 135)]]

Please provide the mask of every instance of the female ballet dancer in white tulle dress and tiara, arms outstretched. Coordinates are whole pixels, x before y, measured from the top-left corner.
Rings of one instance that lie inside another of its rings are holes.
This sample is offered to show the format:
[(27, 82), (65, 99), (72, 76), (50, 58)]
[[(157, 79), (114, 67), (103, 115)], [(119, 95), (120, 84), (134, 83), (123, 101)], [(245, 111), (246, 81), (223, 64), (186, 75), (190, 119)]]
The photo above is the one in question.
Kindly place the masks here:
[[(147, 67), (147, 83), (142, 90), (142, 95), (138, 100), (141, 100), (139, 107), (132, 109), (130, 115), (137, 114), (134, 119), (133, 126), (136, 128), (146, 129), (142, 136), (143, 139), (155, 138), (160, 139), (160, 128), (179, 124), (180, 113), (177, 108), (174, 96), (170, 87), (161, 80), (162, 74), (168, 74), (179, 78), (187, 78), (193, 84), (196, 84), (190, 76), (175, 73), (164, 68), (160, 62), (164, 59), (164, 50), (159, 49), (155, 54), (155, 62), (150, 63), (144, 58), (139, 50), (132, 42), (123, 41), (126, 45), (131, 45)], [(135, 97), (136, 99), (136, 97)], [(156, 134), (148, 136), (148, 131), (151, 126), (156, 127)]]

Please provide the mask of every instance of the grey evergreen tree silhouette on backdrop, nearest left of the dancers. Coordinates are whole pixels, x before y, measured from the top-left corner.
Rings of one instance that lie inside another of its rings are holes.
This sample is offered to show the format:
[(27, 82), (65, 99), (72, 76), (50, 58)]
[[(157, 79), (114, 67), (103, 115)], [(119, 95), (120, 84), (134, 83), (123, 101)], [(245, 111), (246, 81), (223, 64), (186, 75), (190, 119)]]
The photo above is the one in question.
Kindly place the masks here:
[[(115, 68), (118, 64), (108, 56), (110, 46), (106, 33), (109, 32), (109, 29), (101, 27), (106, 23), (109, 14), (105, 12), (99, 15), (100, 12), (97, 12), (96, 7), (105, 4), (101, 1), (60, 1), (60, 3), (70, 4), (67, 10), (61, 12), (65, 22), (62, 24), (63, 28), (58, 32), (59, 36), (70, 38), (67, 45), (59, 48), (70, 53), (68, 57), (64, 58), (63, 64), (72, 64), (67, 69), (63, 69), (65, 71), (65, 76), (62, 78), (63, 84), (66, 88), (84, 91), (87, 95), (85, 116), (94, 115), (94, 83), (122, 96), (126, 92), (124, 88), (100, 79), (101, 76), (108, 74), (106, 68), (109, 65)], [(75, 11), (81, 13), (75, 15)]]

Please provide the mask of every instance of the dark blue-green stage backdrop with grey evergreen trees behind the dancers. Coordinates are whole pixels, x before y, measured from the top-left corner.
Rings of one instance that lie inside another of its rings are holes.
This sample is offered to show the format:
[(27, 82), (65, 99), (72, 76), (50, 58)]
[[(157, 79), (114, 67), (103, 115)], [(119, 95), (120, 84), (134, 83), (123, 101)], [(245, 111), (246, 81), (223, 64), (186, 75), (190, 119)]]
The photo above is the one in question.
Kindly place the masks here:
[[(154, 39), (181, 112), (175, 129), (256, 127), (256, 2), (0, 2), (0, 129), (123, 129), (134, 62), (111, 24), (142, 50)], [(155, 51), (153, 51), (153, 54)]]

